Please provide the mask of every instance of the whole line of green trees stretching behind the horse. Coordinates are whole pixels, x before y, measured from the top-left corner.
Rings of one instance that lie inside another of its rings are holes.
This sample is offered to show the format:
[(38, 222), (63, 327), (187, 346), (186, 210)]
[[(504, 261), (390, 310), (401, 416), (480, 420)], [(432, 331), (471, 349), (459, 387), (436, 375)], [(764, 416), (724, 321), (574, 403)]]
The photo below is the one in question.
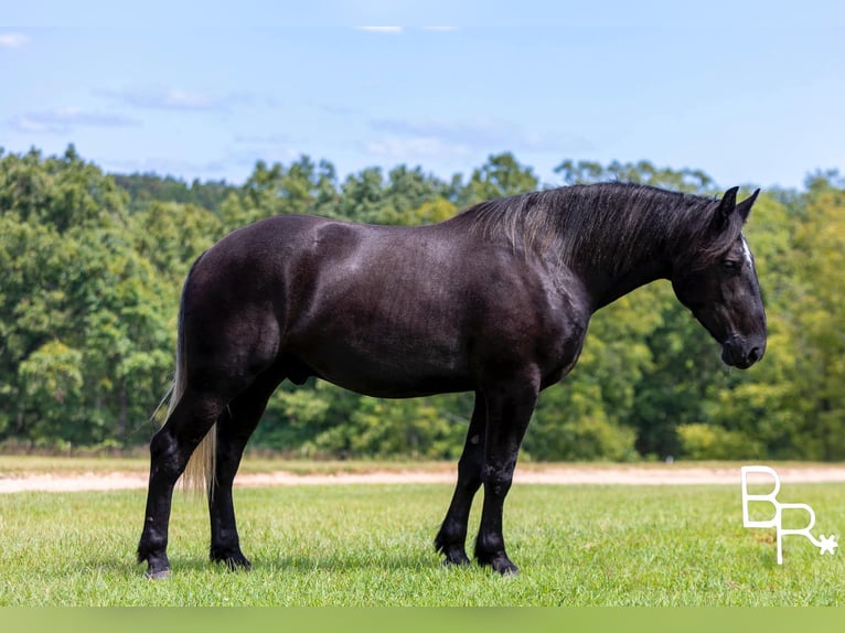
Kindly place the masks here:
[[(556, 185), (723, 191), (702, 171), (649, 162), (566, 160), (555, 173)], [(544, 186), (511, 153), (448, 180), (406, 165), (341, 179), (308, 157), (259, 161), (236, 186), (108, 174), (73, 146), (60, 157), (0, 150), (0, 449), (148, 441), (172, 376), (184, 277), (239, 226), (280, 213), (419, 225)], [(668, 283), (653, 283), (593, 316), (576, 369), (542, 394), (524, 454), (845, 459), (845, 180), (817, 172), (801, 190), (764, 191), (746, 234), (769, 319), (759, 365), (728, 369)], [(315, 379), (285, 384), (252, 446), (453, 458), (471, 408), (468, 394), (379, 400)]]

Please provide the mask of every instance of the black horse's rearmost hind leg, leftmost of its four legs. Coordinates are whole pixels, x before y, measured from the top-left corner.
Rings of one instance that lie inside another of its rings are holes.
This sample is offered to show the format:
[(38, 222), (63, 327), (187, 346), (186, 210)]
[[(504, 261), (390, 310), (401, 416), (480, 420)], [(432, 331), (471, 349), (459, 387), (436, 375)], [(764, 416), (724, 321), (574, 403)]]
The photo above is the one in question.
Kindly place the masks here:
[(170, 573), (167, 549), (173, 486), (225, 406), (226, 400), (218, 394), (188, 388), (150, 442), (147, 511), (138, 543), (138, 562), (147, 561), (148, 578), (165, 578)]

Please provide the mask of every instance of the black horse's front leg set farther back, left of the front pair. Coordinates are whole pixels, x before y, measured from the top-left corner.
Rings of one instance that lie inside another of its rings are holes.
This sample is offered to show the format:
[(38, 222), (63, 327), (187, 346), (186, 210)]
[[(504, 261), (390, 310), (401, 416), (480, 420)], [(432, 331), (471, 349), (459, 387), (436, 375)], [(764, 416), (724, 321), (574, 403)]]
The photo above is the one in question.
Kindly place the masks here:
[(467, 441), (458, 462), (458, 483), (440, 532), (435, 537), (435, 547), (446, 557), (443, 565), (469, 565), (470, 562), (466, 550), (467, 523), (470, 518), (472, 500), (481, 487), (485, 427), (484, 398), (481, 394), (477, 394)]

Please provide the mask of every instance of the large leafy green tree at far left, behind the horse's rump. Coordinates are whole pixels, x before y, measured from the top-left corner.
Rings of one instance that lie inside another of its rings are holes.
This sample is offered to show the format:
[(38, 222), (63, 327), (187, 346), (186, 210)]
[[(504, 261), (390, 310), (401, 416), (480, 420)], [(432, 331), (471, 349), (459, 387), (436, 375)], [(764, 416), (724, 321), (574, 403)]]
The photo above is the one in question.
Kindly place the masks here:
[(73, 148), (3, 155), (0, 174), (0, 439), (126, 440), (172, 363), (175, 293), (135, 250), (125, 195)]

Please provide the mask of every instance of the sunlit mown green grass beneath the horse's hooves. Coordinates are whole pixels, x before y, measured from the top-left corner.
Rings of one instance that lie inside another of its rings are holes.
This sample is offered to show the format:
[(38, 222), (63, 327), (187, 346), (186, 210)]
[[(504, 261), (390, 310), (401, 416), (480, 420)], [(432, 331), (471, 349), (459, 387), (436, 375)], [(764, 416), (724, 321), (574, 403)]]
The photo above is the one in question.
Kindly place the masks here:
[[(814, 534), (842, 540), (844, 489), (784, 484), (780, 498), (809, 503)], [(162, 582), (135, 565), (143, 492), (0, 495), (0, 605), (845, 605), (843, 552), (787, 537), (778, 566), (773, 530), (742, 527), (738, 486), (517, 485), (515, 578), (440, 567), (431, 540), (450, 493), (238, 490), (249, 573), (206, 561), (207, 512), (178, 494)]]

